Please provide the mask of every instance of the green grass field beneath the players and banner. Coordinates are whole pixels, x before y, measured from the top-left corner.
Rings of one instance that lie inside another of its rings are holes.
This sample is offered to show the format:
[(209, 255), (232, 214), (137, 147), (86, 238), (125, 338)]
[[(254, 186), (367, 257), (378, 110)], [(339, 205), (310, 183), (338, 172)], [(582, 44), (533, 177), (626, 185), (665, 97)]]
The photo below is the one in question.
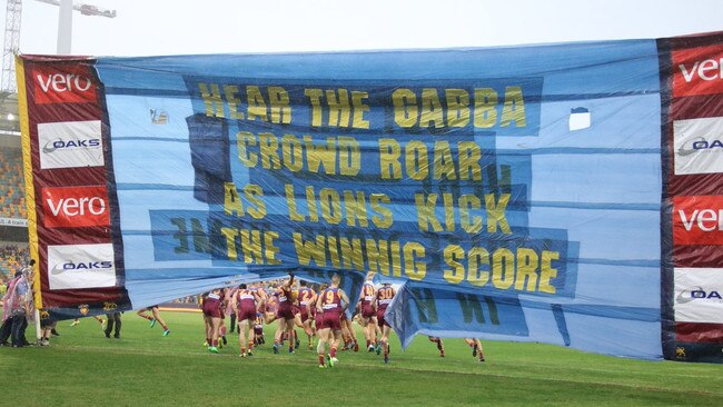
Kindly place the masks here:
[[(199, 314), (164, 312), (161, 329), (127, 312), (120, 339), (107, 339), (92, 318), (61, 321), (50, 347), (0, 348), (4, 406), (479, 406), (717, 405), (723, 366), (654, 363), (583, 354), (536, 344), (486, 343), (487, 361), (462, 339), (445, 340), (447, 357), (418, 337), (392, 360), (339, 353), (319, 369), (306, 341), (295, 355), (238, 357), (238, 337), (220, 355), (204, 347)], [(275, 326), (274, 326), (275, 328)], [(28, 330), (28, 336), (33, 329)]]

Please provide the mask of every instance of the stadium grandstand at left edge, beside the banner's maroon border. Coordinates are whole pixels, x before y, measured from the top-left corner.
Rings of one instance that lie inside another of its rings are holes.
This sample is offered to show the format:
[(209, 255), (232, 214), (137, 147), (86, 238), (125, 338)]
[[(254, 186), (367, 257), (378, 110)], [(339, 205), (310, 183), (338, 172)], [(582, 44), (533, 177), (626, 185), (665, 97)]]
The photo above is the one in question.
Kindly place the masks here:
[(18, 97), (0, 92), (0, 284), (27, 261), (27, 225)]

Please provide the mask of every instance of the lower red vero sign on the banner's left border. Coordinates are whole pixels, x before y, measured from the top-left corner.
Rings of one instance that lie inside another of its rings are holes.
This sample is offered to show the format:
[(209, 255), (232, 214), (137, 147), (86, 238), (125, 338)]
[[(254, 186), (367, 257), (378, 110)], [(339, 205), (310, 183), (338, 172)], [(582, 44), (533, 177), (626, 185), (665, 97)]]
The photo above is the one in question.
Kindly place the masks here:
[(105, 186), (43, 188), (41, 195), (48, 228), (110, 225)]

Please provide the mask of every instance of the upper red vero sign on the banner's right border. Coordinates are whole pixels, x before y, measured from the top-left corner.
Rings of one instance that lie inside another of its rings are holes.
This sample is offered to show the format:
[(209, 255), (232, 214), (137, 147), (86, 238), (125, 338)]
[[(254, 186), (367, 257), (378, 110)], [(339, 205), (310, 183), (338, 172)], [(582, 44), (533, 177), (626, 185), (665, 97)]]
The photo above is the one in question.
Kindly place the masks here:
[(673, 51), (673, 96), (723, 93), (723, 46)]

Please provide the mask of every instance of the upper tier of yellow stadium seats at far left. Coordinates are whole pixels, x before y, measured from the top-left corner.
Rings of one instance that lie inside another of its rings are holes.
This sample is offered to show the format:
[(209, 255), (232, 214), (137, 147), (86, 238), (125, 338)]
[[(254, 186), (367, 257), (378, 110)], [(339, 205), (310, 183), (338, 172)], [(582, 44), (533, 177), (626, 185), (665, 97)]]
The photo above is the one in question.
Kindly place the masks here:
[(26, 219), (24, 180), (20, 149), (0, 149), (0, 218)]

